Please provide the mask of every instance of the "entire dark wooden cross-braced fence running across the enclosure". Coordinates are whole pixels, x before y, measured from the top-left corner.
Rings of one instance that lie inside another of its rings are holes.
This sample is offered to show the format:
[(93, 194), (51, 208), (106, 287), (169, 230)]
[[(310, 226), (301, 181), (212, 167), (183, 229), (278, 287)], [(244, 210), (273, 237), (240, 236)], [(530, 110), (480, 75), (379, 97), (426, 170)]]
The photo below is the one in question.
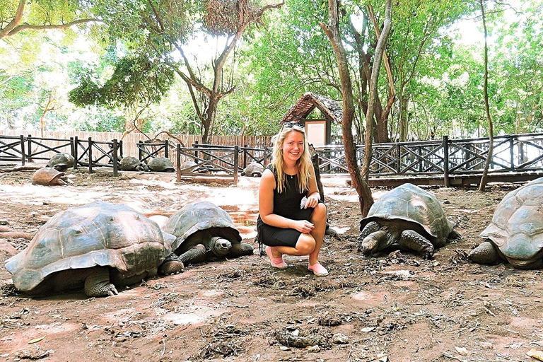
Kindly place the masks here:
[[(112, 168), (117, 175), (119, 160), (128, 156), (125, 149), (131, 146), (127, 141), (86, 140), (78, 136), (69, 139), (46, 139), (28, 136), (0, 135), (0, 160), (26, 161), (48, 160), (54, 153), (71, 153), (76, 165), (93, 168)], [(237, 182), (238, 170), (251, 162), (266, 165), (271, 158), (267, 146), (237, 146), (199, 144), (190, 146), (170, 144), (165, 141), (136, 142), (139, 160), (147, 161), (158, 156), (168, 157), (177, 169), (177, 179), (181, 175), (201, 175), (203, 170), (213, 175), (228, 175)], [(374, 144), (370, 165), (370, 178), (436, 177), (444, 185), (460, 175), (480, 175), (484, 170), (490, 149), (488, 138), (448, 139)], [(315, 148), (319, 156), (320, 174), (348, 173), (343, 146), (319, 146)], [(49, 156), (50, 155), (50, 156)], [(356, 158), (361, 165), (364, 156), (363, 146), (356, 148)], [(181, 170), (181, 165), (192, 160), (195, 165)], [(494, 137), (494, 152), (489, 165), (489, 175), (499, 174), (543, 175), (543, 134), (513, 134)]]

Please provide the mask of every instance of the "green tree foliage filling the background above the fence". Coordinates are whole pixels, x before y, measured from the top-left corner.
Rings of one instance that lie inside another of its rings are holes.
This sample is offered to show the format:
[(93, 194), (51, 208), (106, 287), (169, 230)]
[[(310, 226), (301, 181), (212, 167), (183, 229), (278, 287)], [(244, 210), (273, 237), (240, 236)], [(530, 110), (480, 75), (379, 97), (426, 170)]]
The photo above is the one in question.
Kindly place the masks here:
[[(365, 98), (348, 21), (352, 19), (361, 30), (370, 59), (375, 30), (363, 17), (368, 15), (367, 2), (341, 3), (346, 13), (340, 26), (351, 75), (358, 82), (354, 91), (359, 104)], [(383, 2), (371, 3), (380, 23)], [(17, 4), (0, 1), (0, 29), (13, 18)], [(145, 127), (150, 131), (202, 134), (187, 84), (174, 78), (173, 69), (186, 71), (185, 59), (175, 47), (185, 49), (187, 61), (195, 61), (192, 70), (197, 81), (211, 85), (215, 74), (209, 59), (217, 57), (211, 45), (224, 43), (213, 35), (230, 34), (239, 15), (230, 13), (230, 22), (221, 25), (220, 12), (206, 11), (210, 4), (218, 4), (211, 0), (30, 0), (26, 4), (23, 21), (33, 25), (90, 17), (88, 5), (104, 23), (63, 33), (25, 31), (0, 40), (0, 127), (39, 127), (43, 107), (53, 95), (57, 107), (46, 114), (47, 129), (124, 131), (126, 119), (141, 116), (148, 120)], [(228, 9), (237, 3), (221, 4)], [(493, 6), (487, 21), (495, 133), (539, 132), (543, 129), (541, 1), (514, 3), (516, 12), (495, 1), (485, 4)], [(394, 7), (386, 52), (396, 91), (403, 84), (404, 97), (409, 99), (408, 139), (426, 139), (432, 132), (436, 138), (486, 135), (483, 35), (470, 28), (469, 37), (460, 39), (466, 32), (456, 25), (464, 24), (462, 14), (469, 24), (480, 21), (480, 9), (473, 1), (406, 0)], [(327, 22), (325, 1), (286, 1), (279, 11), (266, 13), (264, 26), (240, 40), (225, 64), (227, 75), (218, 81), (219, 91), (237, 86), (218, 103), (216, 134), (274, 134), (285, 113), (308, 91), (341, 100), (336, 60), (320, 21)], [(193, 38), (201, 39), (209, 52), (192, 52)], [(197, 54), (194, 59), (192, 53)], [(386, 100), (382, 69), (379, 94)], [(209, 98), (197, 91), (195, 95), (205, 113)], [(363, 117), (360, 111), (359, 116)], [(398, 117), (396, 100), (388, 123), (392, 139), (397, 137)]]

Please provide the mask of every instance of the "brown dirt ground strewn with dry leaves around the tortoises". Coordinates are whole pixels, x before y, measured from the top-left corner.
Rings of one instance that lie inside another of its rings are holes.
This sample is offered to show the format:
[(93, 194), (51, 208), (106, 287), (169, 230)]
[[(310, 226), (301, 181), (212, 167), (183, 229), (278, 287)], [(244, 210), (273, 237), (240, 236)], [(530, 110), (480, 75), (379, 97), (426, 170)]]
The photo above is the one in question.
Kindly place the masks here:
[[(28, 298), (4, 262), (59, 211), (95, 199), (170, 216), (187, 202), (222, 206), (255, 238), (258, 179), (238, 186), (175, 183), (171, 174), (70, 173), (33, 186), (32, 171), (0, 173), (0, 361), (537, 361), (543, 350), (542, 271), (467, 262), (498, 202), (518, 185), (429, 188), (462, 240), (433, 259), (389, 251), (363, 257), (354, 189), (323, 177), (332, 228), (317, 278), (307, 257), (274, 270), (265, 257), (196, 264), (107, 298), (71, 291)], [(374, 197), (386, 190), (373, 189)]]

